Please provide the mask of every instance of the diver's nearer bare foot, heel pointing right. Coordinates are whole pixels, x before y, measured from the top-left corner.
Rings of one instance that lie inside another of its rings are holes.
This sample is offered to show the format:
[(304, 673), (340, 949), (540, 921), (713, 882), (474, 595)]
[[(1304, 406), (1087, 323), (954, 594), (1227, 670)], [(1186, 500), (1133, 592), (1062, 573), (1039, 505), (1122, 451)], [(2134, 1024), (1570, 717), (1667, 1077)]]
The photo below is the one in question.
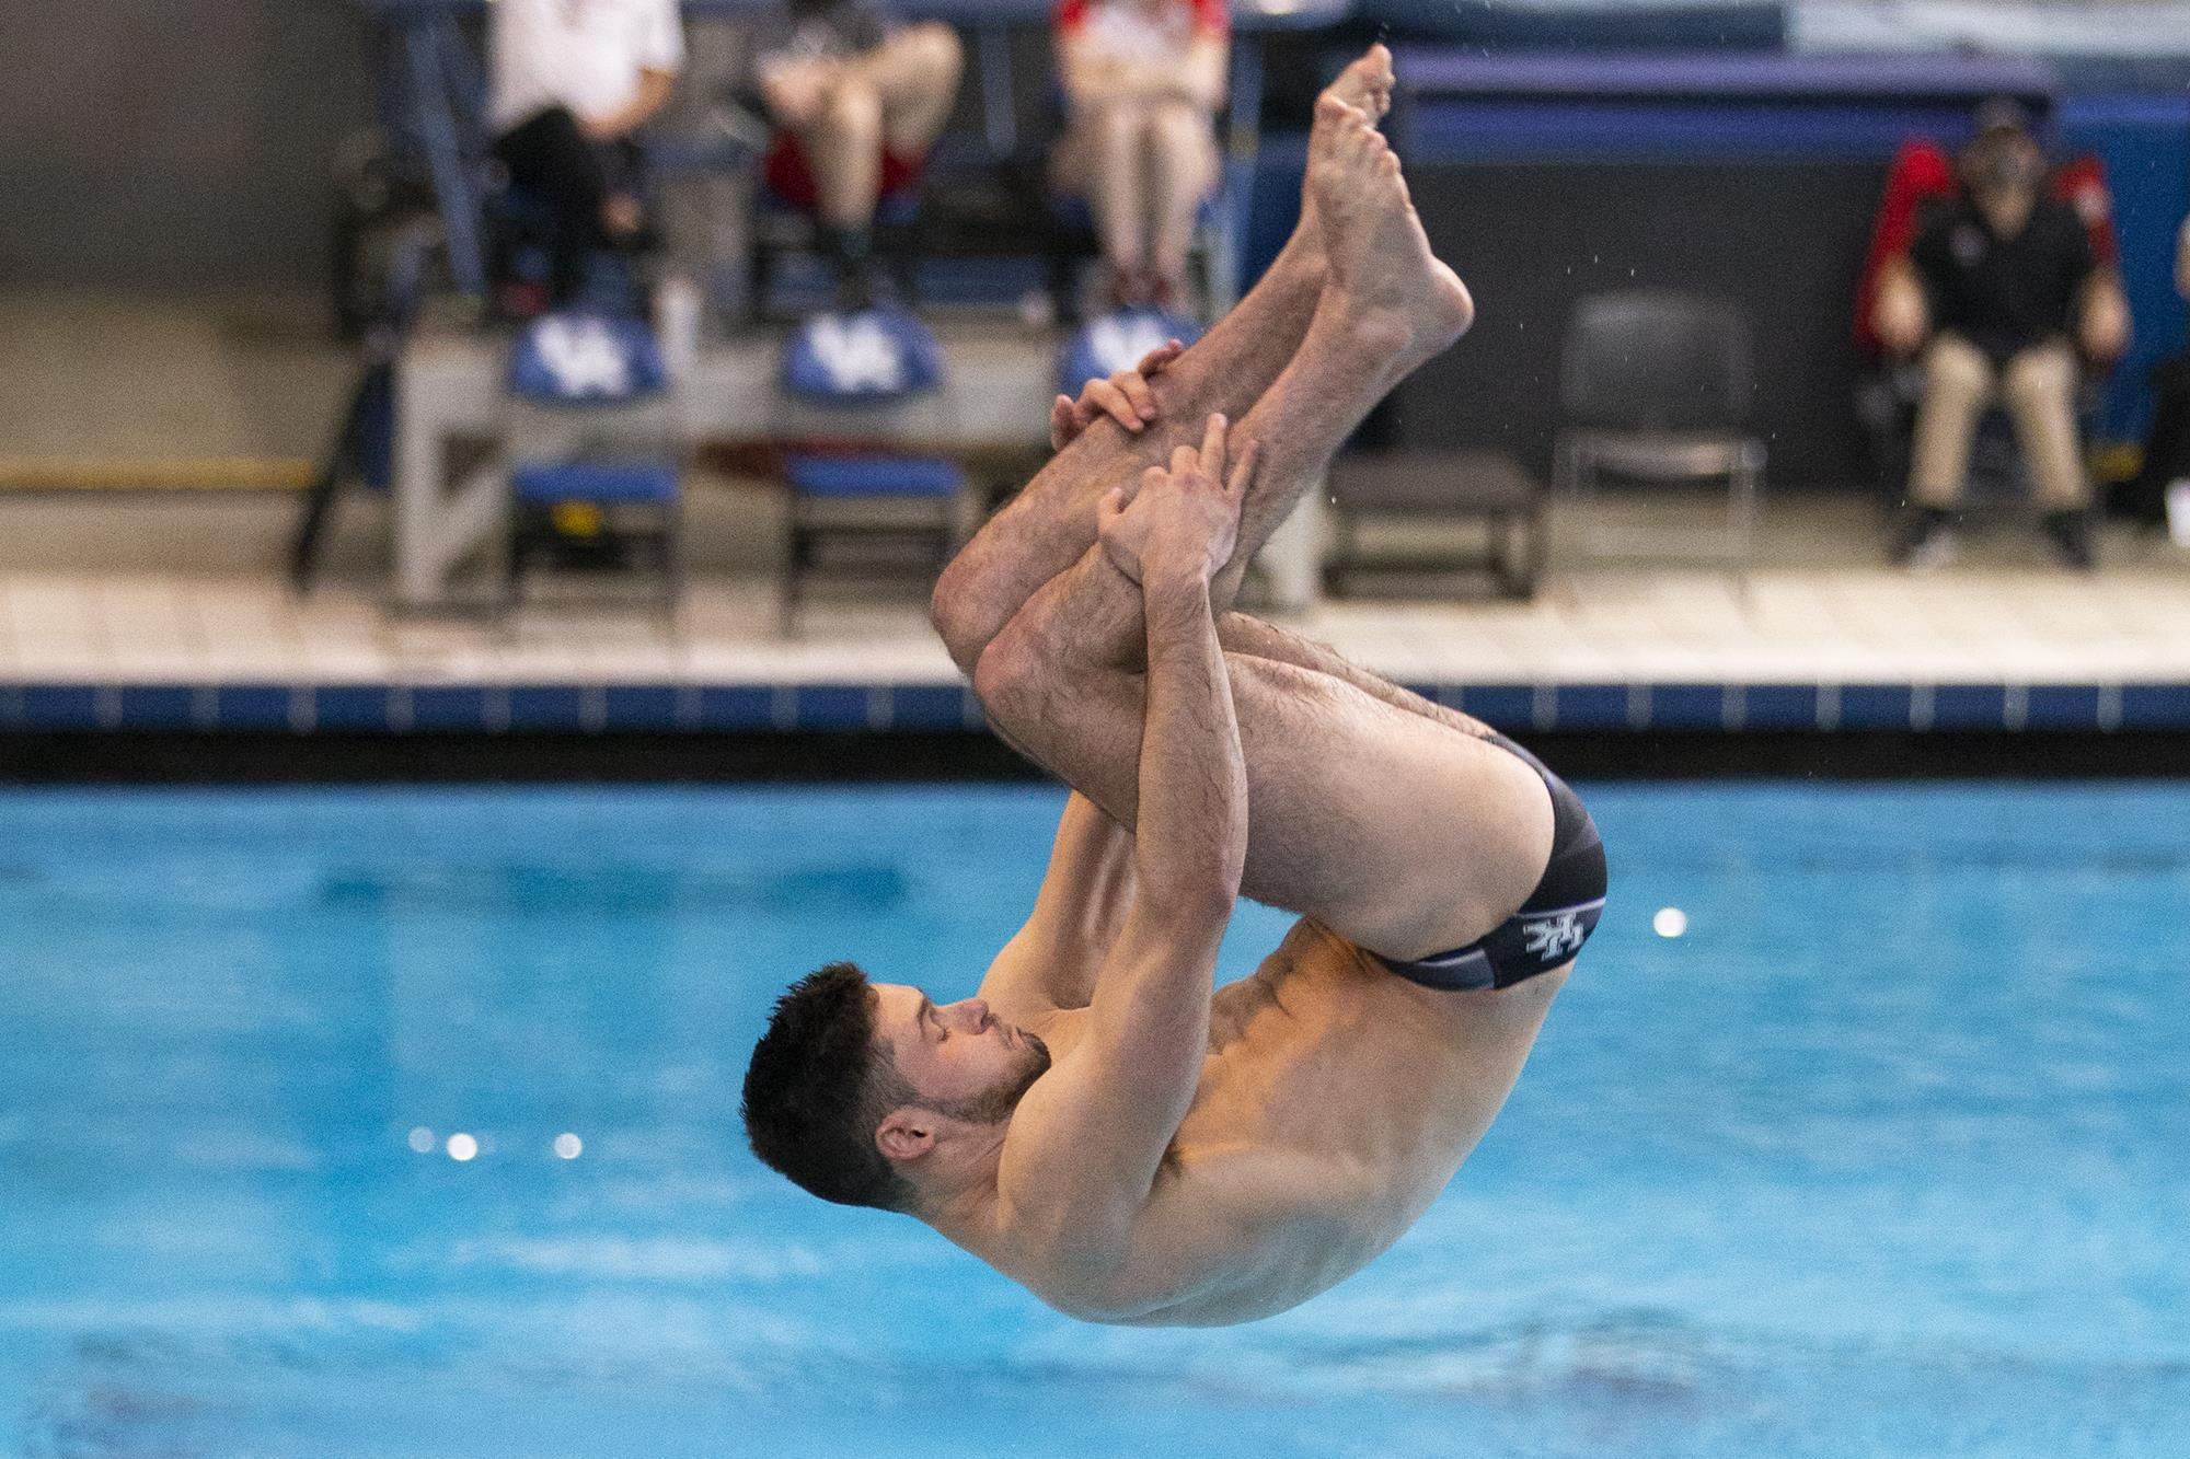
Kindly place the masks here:
[(1316, 199), (1327, 263), (1349, 333), (1391, 359), (1391, 379), (1467, 331), (1474, 300), (1439, 263), (1421, 230), (1391, 142), (1369, 114), (1325, 92), (1307, 142), (1307, 193)]

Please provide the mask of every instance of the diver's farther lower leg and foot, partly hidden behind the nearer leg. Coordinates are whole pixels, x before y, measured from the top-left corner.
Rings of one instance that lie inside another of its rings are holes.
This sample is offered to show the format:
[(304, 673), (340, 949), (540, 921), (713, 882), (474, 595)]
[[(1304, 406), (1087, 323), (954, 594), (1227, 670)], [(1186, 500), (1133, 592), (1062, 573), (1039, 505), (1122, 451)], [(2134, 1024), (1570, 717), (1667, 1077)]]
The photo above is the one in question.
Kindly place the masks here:
[[(1332, 83), (1332, 94), (1340, 101), (1356, 96), (1373, 114), (1382, 114), (1391, 94), (1391, 53), (1373, 46)], [(1336, 125), (1336, 112), (1318, 110), (1310, 136), (1312, 153), (1329, 149)], [(1167, 460), (1174, 445), (1198, 443), (1209, 412), (1237, 418), (1286, 370), (1318, 315), (1325, 285), (1323, 226), (1314, 193), (1312, 186), (1303, 186), (1301, 226), (1240, 307), (1154, 379), (1161, 410), (1156, 425), (1130, 436), (1110, 421), (1095, 421), (944, 570), (931, 616), (959, 668), (972, 673), (981, 648), (1012, 613), (1088, 550), (1095, 541), (1095, 502), (1102, 493), (1143, 467)], [(1419, 223), (1415, 230), (1419, 232)], [(1347, 388), (1360, 383), (1345, 381)], [(1382, 390), (1384, 386), (1378, 386), (1378, 394)], [(1270, 471), (1264, 471), (1261, 480), (1270, 482)], [(1264, 532), (1272, 526), (1275, 521)], [(1246, 541), (1244, 530), (1242, 541)]]

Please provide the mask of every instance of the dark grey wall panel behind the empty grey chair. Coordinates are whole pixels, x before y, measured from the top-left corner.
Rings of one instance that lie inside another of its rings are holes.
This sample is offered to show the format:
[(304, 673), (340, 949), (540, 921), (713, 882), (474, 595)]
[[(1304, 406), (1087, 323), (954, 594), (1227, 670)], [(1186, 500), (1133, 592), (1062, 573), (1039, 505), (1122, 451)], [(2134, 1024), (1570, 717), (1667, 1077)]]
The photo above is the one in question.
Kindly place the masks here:
[(1408, 166), (1408, 184), (1476, 326), (1399, 390), (1378, 423), (1391, 440), (1505, 447), (1548, 471), (1572, 302), (1649, 285), (1748, 309), (1774, 484), (1866, 475), (1848, 329), (1877, 164)]

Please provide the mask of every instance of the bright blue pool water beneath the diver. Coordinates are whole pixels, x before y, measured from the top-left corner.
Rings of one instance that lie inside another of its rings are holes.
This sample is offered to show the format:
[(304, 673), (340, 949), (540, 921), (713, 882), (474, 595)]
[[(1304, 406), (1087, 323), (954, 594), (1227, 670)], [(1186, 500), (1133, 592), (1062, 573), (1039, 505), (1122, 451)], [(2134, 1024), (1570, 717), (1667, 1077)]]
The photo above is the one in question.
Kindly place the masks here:
[(972, 988), (1053, 791), (0, 795), (0, 1452), (2190, 1452), (2190, 791), (1590, 800), (1445, 1198), (1137, 1332), (736, 1124), (791, 975)]

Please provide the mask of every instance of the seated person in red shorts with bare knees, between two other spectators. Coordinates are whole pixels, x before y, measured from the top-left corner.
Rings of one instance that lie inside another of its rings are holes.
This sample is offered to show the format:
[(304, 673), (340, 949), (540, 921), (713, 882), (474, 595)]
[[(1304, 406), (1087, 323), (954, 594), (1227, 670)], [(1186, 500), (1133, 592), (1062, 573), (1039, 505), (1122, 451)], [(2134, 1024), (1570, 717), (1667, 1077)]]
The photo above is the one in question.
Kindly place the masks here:
[(784, 0), (753, 31), (760, 101), (780, 129), (766, 180), (819, 219), (845, 307), (872, 300), (876, 204), (918, 182), (961, 64), (950, 26), (896, 26), (872, 0)]

